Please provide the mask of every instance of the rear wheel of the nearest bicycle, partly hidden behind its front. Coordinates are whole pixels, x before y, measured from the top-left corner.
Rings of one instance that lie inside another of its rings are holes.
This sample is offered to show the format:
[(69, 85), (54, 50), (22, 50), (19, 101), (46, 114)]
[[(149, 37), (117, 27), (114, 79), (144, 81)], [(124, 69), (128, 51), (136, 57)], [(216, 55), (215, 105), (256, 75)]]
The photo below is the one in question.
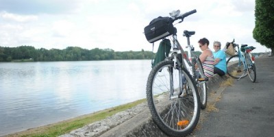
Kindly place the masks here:
[[(200, 58), (197, 58), (196, 63), (201, 66), (201, 70), (199, 69), (199, 73), (203, 73), (203, 65), (201, 64)], [(208, 89), (206, 87), (206, 82), (197, 81), (197, 90), (201, 100), (201, 109), (205, 109), (208, 103)]]

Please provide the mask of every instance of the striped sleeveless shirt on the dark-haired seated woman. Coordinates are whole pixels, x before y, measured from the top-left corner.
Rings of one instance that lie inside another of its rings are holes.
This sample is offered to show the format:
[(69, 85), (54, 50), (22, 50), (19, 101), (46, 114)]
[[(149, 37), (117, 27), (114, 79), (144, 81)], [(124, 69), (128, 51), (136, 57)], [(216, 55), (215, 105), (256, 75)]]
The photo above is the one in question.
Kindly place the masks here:
[(212, 77), (214, 75), (214, 56), (206, 57), (206, 60), (202, 63), (203, 73), (206, 77)]

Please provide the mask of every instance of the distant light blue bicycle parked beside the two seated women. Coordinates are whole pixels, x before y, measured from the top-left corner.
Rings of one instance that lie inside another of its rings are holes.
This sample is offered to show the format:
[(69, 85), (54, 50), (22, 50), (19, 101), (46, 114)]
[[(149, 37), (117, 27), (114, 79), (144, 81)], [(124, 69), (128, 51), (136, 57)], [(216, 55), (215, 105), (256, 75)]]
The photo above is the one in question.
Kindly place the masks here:
[(241, 45), (234, 43), (235, 40), (230, 42), (233, 47), (238, 47), (238, 51), (236, 50), (236, 55), (232, 55), (227, 60), (227, 74), (234, 79), (240, 79), (242, 77), (246, 77), (249, 75), (249, 79), (251, 82), (256, 82), (256, 66), (255, 66), (255, 58), (252, 56), (251, 51), (256, 49), (256, 47), (248, 45)]

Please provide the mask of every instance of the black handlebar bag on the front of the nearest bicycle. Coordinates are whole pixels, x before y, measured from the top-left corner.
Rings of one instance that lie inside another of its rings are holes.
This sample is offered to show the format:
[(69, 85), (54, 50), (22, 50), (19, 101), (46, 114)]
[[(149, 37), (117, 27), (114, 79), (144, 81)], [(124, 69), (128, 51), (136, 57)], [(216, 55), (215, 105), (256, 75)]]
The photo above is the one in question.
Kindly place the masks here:
[(175, 28), (170, 17), (159, 16), (145, 27), (145, 36), (150, 43), (171, 36), (174, 32)]

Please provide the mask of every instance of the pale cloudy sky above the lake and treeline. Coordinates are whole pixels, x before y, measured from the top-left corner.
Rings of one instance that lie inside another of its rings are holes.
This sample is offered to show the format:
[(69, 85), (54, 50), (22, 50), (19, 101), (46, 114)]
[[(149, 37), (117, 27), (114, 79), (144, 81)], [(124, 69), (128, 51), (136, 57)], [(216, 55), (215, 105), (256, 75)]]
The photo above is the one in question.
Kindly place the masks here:
[[(184, 30), (195, 31), (190, 44), (195, 51), (200, 38), (222, 47), (226, 42), (271, 51), (253, 39), (255, 0), (0, 0), (0, 46), (33, 46), (36, 49), (113, 49), (152, 51), (144, 28), (153, 18), (197, 10), (175, 25), (183, 48)], [(154, 52), (158, 42), (155, 42)]]

